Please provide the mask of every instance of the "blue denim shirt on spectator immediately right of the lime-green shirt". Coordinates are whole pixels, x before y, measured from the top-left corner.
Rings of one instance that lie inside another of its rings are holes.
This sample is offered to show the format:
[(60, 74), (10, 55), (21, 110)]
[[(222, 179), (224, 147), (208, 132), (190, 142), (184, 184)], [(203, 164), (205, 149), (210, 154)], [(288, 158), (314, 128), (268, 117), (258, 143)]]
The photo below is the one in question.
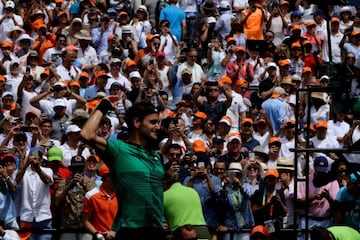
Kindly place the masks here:
[[(210, 180), (214, 183), (215, 189), (211, 193), (207, 181), (202, 181), (200, 178), (195, 178), (193, 181), (193, 188), (198, 192), (201, 200), (201, 206), (206, 221), (206, 225), (209, 227), (216, 227), (218, 223), (216, 213), (216, 201), (220, 196), (221, 180), (210, 174)], [(188, 176), (184, 180), (184, 185), (187, 185), (191, 176)]]

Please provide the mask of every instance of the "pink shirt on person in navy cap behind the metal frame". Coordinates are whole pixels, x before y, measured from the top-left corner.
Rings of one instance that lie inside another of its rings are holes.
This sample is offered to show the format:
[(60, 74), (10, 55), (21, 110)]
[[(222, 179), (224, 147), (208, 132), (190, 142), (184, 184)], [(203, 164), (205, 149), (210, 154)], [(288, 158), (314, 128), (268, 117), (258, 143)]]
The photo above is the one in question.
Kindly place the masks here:
[[(325, 186), (317, 188), (313, 184), (314, 174), (309, 175), (309, 196), (313, 196), (315, 194), (320, 194), (324, 189), (329, 191), (330, 197), (332, 199), (336, 198), (336, 194), (339, 192), (339, 184), (337, 181), (332, 181)], [(298, 199), (305, 199), (306, 193), (306, 183), (300, 182), (298, 183)], [(309, 216), (311, 217), (330, 217), (331, 209), (330, 203), (326, 198), (322, 198), (321, 200), (314, 200), (310, 203), (309, 207)]]

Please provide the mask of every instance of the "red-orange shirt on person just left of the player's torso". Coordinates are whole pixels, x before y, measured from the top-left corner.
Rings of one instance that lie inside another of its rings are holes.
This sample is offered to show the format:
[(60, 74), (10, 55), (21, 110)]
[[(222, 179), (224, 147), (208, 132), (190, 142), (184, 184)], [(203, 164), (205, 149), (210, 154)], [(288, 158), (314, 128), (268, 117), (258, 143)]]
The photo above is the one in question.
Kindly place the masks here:
[(100, 233), (109, 231), (117, 211), (118, 202), (115, 192), (109, 195), (101, 185), (86, 193), (83, 212), (91, 213), (89, 221), (96, 231)]

